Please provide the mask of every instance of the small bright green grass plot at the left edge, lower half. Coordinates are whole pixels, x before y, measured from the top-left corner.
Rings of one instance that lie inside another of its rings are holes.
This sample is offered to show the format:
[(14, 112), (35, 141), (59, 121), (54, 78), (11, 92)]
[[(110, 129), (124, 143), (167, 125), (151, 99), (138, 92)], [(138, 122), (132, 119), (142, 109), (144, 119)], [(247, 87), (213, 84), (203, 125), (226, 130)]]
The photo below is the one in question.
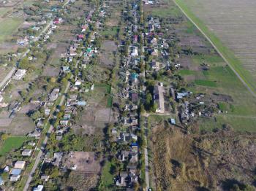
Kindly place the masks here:
[(26, 141), (26, 136), (10, 136), (4, 140), (1, 145), (0, 155), (5, 155), (7, 152), (10, 152), (12, 149), (20, 148), (24, 141)]

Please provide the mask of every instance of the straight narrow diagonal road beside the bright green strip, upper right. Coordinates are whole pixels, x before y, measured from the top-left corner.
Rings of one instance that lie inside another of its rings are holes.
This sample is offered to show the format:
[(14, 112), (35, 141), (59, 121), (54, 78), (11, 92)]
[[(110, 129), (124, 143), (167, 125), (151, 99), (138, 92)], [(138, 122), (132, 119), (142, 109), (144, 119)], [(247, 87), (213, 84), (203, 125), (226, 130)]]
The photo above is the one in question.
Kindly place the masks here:
[(240, 81), (244, 84), (244, 86), (249, 90), (250, 93), (252, 93), (253, 96), (256, 97), (256, 93), (254, 90), (252, 90), (251, 87), (249, 87), (249, 85), (247, 85), (247, 83), (244, 81), (244, 79), (238, 74), (238, 72), (233, 69), (233, 66), (227, 61), (227, 59), (225, 58), (224, 55), (222, 55), (222, 52), (219, 51), (219, 49), (215, 46), (215, 44), (211, 41), (211, 39), (201, 30), (201, 28), (199, 26), (197, 26), (197, 24), (194, 22), (194, 20), (192, 20), (192, 18), (189, 17), (189, 15), (187, 15), (187, 13), (182, 9), (182, 7), (180, 7), (178, 5), (178, 3), (176, 2), (176, 0), (173, 0), (175, 2), (175, 4), (179, 7), (179, 9), (181, 9), (181, 11), (184, 13), (184, 15), (196, 26), (196, 28), (200, 31), (201, 34), (203, 34), (203, 36), (206, 37), (206, 39), (208, 40), (208, 42), (211, 43), (211, 45), (215, 48), (215, 50), (217, 50), (217, 52), (219, 53), (219, 55), (223, 58), (223, 60), (228, 64), (228, 66), (230, 66), (230, 69), (233, 70), (233, 72), (236, 74), (236, 76), (238, 77), (238, 79), (240, 79)]

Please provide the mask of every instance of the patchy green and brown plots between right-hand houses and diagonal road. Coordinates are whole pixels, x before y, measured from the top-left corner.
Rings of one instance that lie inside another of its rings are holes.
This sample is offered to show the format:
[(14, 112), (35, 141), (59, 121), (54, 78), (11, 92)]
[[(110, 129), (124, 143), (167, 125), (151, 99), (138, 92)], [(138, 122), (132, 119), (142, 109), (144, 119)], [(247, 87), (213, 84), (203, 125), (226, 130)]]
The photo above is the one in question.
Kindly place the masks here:
[[(166, 9), (170, 9), (167, 6), (176, 7), (173, 1), (160, 2), (157, 7), (146, 7), (148, 15), (154, 11), (165, 12)], [(178, 20), (167, 28), (169, 33), (178, 36), (178, 45), (181, 48), (186, 49), (189, 45), (199, 54), (181, 55), (178, 60), (181, 64), (178, 74), (187, 82), (187, 90), (194, 94), (227, 95), (232, 98), (222, 114), (215, 114), (214, 118), (200, 118), (198, 122), (200, 129), (212, 130), (228, 124), (235, 130), (255, 132), (255, 98), (200, 31), (184, 16), (182, 17), (181, 12), (176, 11), (170, 15), (161, 15), (163, 20)]]

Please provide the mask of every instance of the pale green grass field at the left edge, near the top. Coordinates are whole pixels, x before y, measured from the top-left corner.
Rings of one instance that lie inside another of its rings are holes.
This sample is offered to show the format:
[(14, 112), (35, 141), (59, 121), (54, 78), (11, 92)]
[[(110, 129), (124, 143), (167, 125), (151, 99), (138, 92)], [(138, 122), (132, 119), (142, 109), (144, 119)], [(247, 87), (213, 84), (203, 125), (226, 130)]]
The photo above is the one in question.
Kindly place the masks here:
[(20, 18), (5, 18), (0, 21), (0, 42), (4, 42), (8, 36), (12, 35), (23, 22)]

